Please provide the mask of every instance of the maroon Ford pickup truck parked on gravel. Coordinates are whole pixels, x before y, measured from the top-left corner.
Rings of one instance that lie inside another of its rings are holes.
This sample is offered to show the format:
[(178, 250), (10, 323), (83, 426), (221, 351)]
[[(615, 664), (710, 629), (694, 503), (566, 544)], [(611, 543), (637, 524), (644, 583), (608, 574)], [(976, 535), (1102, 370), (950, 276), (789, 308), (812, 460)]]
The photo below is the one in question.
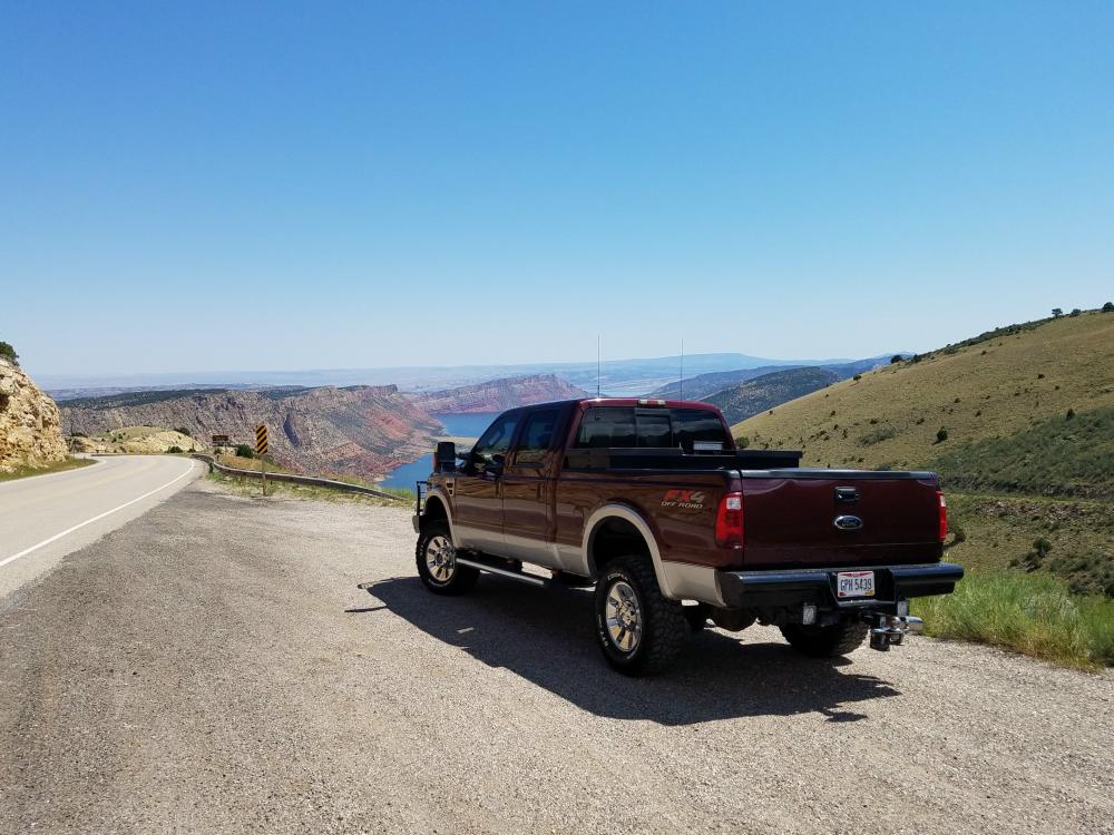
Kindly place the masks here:
[[(909, 598), (946, 595), (947, 505), (930, 472), (813, 470), (736, 450), (705, 403), (594, 399), (512, 409), (471, 450), (438, 444), (418, 490), (418, 573), (438, 595), (480, 572), (595, 586), (616, 669), (663, 669), (685, 638), (758, 621), (798, 650), (887, 650)], [(546, 569), (539, 572), (537, 568)]]

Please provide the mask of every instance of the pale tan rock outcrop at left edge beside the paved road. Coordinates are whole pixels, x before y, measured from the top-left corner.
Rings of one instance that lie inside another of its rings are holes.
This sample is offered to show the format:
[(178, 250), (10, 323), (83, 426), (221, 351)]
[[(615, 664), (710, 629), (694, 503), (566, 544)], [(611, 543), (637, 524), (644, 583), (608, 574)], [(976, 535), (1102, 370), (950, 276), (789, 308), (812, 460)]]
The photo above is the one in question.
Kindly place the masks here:
[(0, 472), (65, 458), (58, 406), (22, 369), (0, 357)]

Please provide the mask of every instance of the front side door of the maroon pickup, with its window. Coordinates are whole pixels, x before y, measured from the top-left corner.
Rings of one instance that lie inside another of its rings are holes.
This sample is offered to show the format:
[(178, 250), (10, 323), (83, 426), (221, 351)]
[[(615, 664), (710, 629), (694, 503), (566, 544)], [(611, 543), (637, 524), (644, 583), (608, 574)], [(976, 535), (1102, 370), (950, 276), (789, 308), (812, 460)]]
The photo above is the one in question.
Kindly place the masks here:
[(453, 480), (452, 528), (458, 548), (504, 556), (502, 472), (520, 412), (506, 412), (472, 446), (468, 463)]

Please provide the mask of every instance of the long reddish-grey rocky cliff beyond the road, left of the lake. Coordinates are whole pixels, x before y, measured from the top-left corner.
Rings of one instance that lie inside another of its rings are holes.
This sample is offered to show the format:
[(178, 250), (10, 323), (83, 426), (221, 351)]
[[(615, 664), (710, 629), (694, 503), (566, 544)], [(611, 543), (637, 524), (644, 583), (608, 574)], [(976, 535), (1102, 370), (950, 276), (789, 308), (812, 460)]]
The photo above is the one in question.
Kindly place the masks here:
[(295, 392), (167, 392), (72, 401), (62, 409), (75, 432), (124, 426), (187, 429), (208, 443), (214, 434), (253, 443), (267, 424), (271, 453), (295, 472), (349, 473), (368, 479), (428, 452), (440, 423), (393, 385)]

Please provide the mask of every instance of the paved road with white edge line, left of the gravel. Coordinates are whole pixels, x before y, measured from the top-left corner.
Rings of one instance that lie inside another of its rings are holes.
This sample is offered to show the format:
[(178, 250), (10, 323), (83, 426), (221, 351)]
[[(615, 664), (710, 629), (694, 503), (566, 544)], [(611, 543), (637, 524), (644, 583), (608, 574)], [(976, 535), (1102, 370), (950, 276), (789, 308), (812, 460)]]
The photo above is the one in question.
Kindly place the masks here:
[(169, 455), (114, 455), (0, 482), (0, 596), (168, 499), (203, 470)]

